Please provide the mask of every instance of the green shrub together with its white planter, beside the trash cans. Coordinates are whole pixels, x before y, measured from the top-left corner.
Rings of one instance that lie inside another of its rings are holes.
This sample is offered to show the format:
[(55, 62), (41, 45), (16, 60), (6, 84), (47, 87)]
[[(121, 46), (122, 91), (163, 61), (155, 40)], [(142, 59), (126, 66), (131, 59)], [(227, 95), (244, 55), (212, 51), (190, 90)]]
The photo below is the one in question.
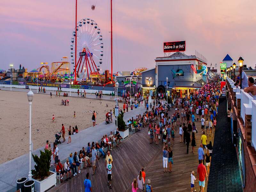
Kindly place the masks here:
[(40, 157), (33, 155), (36, 163), (35, 169), (31, 170), (32, 180), (35, 181), (35, 191), (43, 192), (56, 185), (56, 172), (50, 171), (50, 161), (52, 152), (44, 149), (40, 150)]

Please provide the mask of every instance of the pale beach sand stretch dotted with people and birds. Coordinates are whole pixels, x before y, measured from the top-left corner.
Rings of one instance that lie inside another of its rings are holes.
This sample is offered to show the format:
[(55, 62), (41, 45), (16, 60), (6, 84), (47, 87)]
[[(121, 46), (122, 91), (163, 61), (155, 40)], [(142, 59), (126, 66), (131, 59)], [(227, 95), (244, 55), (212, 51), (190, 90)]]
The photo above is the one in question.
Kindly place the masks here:
[[(62, 99), (68, 99), (69, 105), (61, 105)], [(108, 104), (108, 107), (106, 107)], [(34, 94), (32, 102), (32, 142), (33, 149), (43, 147), (46, 140), (52, 143), (55, 133), (64, 124), (68, 136), (68, 127), (78, 127), (78, 131), (92, 126), (92, 113), (97, 114), (96, 123), (105, 121), (107, 111), (115, 107), (114, 101), (76, 97), (55, 97), (48, 94)], [(29, 152), (29, 105), (27, 92), (0, 90), (0, 127), (1, 148), (0, 164)], [(90, 111), (91, 110), (91, 111)], [(74, 111), (76, 117), (74, 118)], [(55, 116), (52, 123), (52, 114)], [(37, 132), (37, 129), (39, 132)], [(62, 141), (62, 138), (61, 138)], [(4, 155), (8, 153), (8, 155)]]

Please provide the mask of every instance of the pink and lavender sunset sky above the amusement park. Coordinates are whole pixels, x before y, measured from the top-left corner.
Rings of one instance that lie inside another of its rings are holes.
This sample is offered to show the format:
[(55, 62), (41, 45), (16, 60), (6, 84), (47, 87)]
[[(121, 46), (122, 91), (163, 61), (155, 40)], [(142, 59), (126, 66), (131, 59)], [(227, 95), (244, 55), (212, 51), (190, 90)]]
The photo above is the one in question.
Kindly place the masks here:
[[(91, 5), (95, 4), (95, 10)], [(163, 42), (186, 41), (208, 67), (229, 54), (255, 67), (256, 3), (254, 0), (113, 0), (113, 71), (155, 66)], [(77, 19), (95, 20), (104, 43), (102, 71), (110, 69), (110, 0), (78, 0)], [(70, 60), (75, 27), (75, 0), (1, 0), (0, 68), (21, 64), (28, 71), (41, 62)]]

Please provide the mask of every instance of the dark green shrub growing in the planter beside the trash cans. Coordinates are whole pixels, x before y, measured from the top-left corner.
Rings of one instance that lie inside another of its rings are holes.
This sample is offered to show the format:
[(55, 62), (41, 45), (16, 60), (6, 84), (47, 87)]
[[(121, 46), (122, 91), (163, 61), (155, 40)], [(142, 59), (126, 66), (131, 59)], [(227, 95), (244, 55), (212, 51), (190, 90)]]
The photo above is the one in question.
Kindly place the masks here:
[(44, 177), (49, 176), (51, 153), (51, 151), (44, 149), (44, 152), (40, 150), (40, 157), (32, 154), (36, 163), (35, 169), (31, 170), (34, 179), (44, 179)]

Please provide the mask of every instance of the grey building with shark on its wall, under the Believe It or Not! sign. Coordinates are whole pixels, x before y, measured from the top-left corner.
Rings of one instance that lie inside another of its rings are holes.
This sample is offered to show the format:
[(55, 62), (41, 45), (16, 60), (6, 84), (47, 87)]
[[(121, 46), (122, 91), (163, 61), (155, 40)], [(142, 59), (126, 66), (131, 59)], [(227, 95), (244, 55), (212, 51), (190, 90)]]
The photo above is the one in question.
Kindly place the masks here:
[(150, 87), (155, 86), (156, 92), (166, 91), (166, 77), (168, 77), (167, 91), (180, 96), (189, 94), (193, 89), (202, 88), (207, 82), (207, 75), (203, 75), (207, 63), (195, 55), (188, 56), (183, 52), (175, 52), (168, 57), (157, 57), (155, 61), (155, 68), (141, 73), (143, 92), (149, 88), (149, 77), (151, 77)]

